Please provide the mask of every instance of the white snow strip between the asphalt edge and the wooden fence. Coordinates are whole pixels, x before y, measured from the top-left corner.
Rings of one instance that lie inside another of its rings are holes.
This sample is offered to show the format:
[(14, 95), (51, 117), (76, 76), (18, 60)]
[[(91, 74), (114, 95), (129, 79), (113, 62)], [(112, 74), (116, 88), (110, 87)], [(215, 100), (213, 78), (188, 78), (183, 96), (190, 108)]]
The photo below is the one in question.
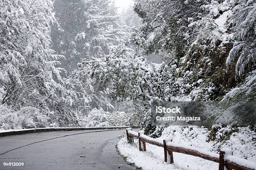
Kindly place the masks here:
[(164, 149), (146, 143), (146, 152), (138, 150), (138, 140), (134, 139), (134, 144), (128, 144), (125, 138), (122, 138), (117, 148), (121, 155), (127, 157), (129, 163), (135, 164), (143, 170), (216, 170), (218, 163), (197, 158), (191, 155), (173, 153), (174, 163), (164, 162)]

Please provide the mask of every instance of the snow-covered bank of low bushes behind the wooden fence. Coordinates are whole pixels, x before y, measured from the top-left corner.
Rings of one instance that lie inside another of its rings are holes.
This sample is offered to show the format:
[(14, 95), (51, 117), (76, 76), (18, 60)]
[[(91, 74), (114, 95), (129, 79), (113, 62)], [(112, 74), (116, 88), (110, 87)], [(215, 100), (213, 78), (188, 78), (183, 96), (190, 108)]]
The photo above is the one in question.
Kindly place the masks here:
[(256, 161), (255, 126), (213, 126), (210, 129), (198, 126), (169, 126), (163, 130), (160, 138), (214, 153), (229, 148), (240, 158)]

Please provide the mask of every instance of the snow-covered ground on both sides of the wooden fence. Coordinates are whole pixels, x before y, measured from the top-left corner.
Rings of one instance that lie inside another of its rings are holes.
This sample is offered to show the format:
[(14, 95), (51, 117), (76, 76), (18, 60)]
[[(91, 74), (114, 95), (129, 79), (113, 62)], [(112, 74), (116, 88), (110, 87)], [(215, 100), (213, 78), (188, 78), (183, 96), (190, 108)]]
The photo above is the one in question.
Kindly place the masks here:
[[(225, 127), (215, 130), (216, 133), (211, 134), (211, 131), (207, 128), (197, 126), (169, 126), (164, 129), (161, 137), (157, 138), (157, 140), (172, 140), (175, 145), (198, 148), (201, 151), (212, 154), (218, 153), (220, 149), (233, 150), (234, 157), (232, 156), (232, 158), (237, 158), (238, 161), (235, 161), (236, 163), (243, 166), (247, 166), (247, 164), (249, 166), (250, 164), (250, 167), (256, 167), (256, 134), (253, 130), (249, 127), (238, 129)], [(224, 136), (229, 136), (229, 138), (224, 138)], [(210, 140), (210, 138), (212, 139)], [(127, 143), (125, 138), (122, 138), (117, 147), (120, 154), (127, 157), (129, 163), (134, 163), (137, 167), (143, 168), (143, 170), (218, 169), (218, 163), (181, 153), (173, 153), (174, 163), (167, 164), (164, 162), (163, 148), (146, 143), (147, 151), (140, 152), (138, 150), (138, 140), (136, 139), (134, 139), (134, 144), (131, 145)]]

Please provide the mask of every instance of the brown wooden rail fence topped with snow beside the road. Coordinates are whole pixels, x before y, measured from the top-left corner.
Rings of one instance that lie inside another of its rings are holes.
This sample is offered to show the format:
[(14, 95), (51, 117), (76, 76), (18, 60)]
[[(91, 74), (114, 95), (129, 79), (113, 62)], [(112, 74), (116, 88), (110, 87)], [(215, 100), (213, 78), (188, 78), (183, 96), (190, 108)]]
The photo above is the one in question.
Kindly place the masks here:
[(132, 128), (126, 129), (126, 135), (128, 143), (133, 143), (133, 138), (138, 138), (140, 151), (146, 151), (146, 143), (164, 148), (164, 161), (166, 163), (174, 163), (173, 152), (177, 152), (219, 163), (219, 170), (225, 170), (225, 167), (228, 170), (256, 170), (256, 163), (233, 156), (232, 150), (220, 150), (220, 154), (211, 153), (191, 146), (182, 146), (166, 140), (160, 141), (150, 138), (144, 135), (143, 130), (135, 132)]

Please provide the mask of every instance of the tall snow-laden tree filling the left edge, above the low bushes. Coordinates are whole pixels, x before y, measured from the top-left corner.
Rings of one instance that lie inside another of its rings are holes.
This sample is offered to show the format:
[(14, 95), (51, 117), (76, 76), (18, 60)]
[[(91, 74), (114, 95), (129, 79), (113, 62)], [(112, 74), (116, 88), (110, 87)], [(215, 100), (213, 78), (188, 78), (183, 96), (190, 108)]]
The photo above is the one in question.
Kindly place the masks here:
[(0, 8), (1, 104), (15, 110), (36, 107), (61, 125), (76, 124), (71, 106), (77, 96), (66, 89), (61, 56), (50, 48), (53, 2), (3, 0)]

